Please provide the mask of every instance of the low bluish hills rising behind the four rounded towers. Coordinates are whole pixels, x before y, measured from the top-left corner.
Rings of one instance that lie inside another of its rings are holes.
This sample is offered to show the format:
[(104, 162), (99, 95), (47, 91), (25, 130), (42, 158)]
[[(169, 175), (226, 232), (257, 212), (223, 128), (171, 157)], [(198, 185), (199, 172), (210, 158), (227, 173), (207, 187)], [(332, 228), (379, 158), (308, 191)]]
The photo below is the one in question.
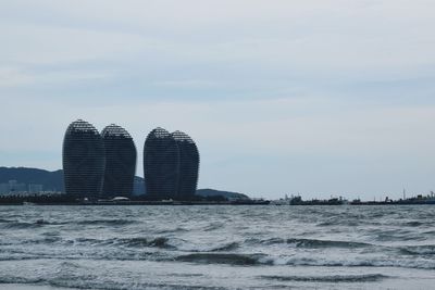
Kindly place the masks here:
[[(63, 171), (48, 172), (38, 168), (27, 167), (0, 167), (0, 184), (8, 184), (9, 180), (16, 180), (18, 184), (36, 184), (42, 185), (46, 191), (65, 191), (63, 182)], [(145, 192), (145, 180), (142, 177), (136, 176), (134, 181), (134, 196), (141, 196)], [(227, 199), (249, 199), (246, 194), (220, 191), (215, 189), (198, 189), (198, 196), (217, 197), (222, 196)]]

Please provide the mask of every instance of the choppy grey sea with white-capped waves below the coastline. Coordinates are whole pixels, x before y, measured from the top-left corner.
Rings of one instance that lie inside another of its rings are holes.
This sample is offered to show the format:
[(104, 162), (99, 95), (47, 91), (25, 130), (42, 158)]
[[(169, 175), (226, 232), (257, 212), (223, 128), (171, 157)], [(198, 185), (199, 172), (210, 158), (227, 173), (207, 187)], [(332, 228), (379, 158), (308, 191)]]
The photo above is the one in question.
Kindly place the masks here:
[(0, 289), (435, 289), (435, 206), (0, 206)]

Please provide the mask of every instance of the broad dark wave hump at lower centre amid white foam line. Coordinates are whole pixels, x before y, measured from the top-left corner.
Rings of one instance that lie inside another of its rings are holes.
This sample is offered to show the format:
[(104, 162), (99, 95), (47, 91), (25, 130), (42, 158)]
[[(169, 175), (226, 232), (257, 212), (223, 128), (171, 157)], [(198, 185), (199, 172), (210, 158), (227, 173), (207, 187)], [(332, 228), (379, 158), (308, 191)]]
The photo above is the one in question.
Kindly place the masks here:
[(192, 253), (176, 256), (175, 261), (199, 264), (264, 265), (273, 264), (265, 254)]

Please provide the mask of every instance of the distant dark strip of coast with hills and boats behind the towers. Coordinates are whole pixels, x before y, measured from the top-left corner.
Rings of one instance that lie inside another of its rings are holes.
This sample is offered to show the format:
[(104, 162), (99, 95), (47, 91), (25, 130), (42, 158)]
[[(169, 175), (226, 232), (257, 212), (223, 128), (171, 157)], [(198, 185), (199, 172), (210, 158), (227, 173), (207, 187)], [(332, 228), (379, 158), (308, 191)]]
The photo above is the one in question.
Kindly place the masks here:
[[(11, 192), (12, 187), (12, 192)], [(302, 197), (286, 197), (279, 200), (253, 200), (245, 193), (216, 189), (198, 189), (190, 201), (151, 201), (145, 192), (144, 178), (136, 176), (134, 192), (128, 201), (76, 201), (65, 194), (63, 171), (49, 172), (28, 167), (0, 167), (0, 204), (45, 205), (421, 205), (435, 204), (435, 194), (380, 201), (348, 201), (343, 198), (326, 200), (302, 200)]]

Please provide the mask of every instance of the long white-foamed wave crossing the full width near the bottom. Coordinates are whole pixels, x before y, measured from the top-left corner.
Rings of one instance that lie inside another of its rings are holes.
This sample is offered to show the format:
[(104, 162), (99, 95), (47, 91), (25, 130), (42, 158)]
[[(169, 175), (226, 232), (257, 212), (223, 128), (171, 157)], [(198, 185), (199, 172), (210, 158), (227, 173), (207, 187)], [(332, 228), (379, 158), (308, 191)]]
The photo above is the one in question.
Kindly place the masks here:
[[(151, 243), (152, 241), (150, 241)], [(413, 253), (407, 252), (412, 255)], [(433, 255), (433, 252), (430, 253)], [(178, 251), (123, 251), (120, 249), (96, 249), (91, 251), (72, 251), (66, 253), (53, 253), (49, 250), (37, 253), (7, 251), (0, 254), (0, 261), (24, 260), (83, 260), (92, 261), (153, 261), (153, 262), (182, 262), (204, 265), (226, 264), (235, 266), (291, 266), (291, 267), (366, 267), (366, 268), (409, 268), (409, 269), (435, 269), (432, 257), (403, 259), (316, 259), (304, 256), (270, 256), (263, 253), (221, 253), (197, 252), (181, 254)]]

